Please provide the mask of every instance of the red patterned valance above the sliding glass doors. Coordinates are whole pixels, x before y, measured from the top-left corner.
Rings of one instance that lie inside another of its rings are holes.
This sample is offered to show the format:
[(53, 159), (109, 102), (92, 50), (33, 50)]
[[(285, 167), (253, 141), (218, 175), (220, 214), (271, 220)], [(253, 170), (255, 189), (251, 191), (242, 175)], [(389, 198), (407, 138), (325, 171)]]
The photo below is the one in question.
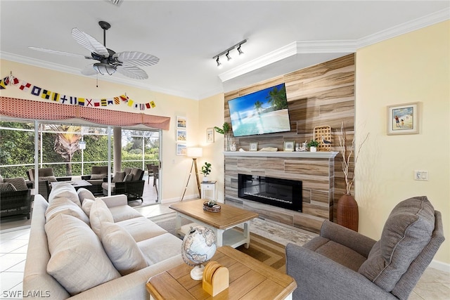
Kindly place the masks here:
[(84, 119), (111, 126), (145, 125), (154, 129), (169, 130), (170, 117), (120, 112), (94, 107), (46, 103), (19, 98), (0, 97), (0, 115), (23, 119), (64, 120)]

